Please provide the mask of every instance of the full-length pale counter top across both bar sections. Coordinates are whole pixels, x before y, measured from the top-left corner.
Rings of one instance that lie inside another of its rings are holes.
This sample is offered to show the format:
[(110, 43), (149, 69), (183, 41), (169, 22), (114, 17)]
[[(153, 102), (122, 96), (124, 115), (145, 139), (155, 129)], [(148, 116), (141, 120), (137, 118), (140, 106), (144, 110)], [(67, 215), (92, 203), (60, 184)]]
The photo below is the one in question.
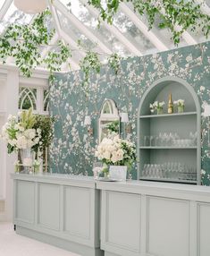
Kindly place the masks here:
[(63, 185), (82, 186), (97, 188), (99, 190), (114, 192), (129, 192), (153, 196), (165, 196), (183, 200), (210, 202), (210, 186), (180, 184), (180, 183), (160, 183), (147, 181), (127, 181), (127, 182), (103, 182), (96, 181), (92, 176), (67, 175), (67, 174), (12, 174), (14, 180), (24, 180), (29, 182), (57, 183)]

